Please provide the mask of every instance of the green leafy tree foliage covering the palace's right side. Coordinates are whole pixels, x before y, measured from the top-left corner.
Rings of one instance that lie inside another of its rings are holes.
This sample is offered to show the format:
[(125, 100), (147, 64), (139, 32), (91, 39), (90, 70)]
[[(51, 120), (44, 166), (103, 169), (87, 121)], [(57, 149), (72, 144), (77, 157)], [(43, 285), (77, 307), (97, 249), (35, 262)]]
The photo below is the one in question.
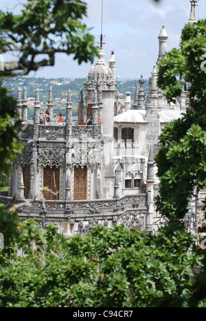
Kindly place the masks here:
[(159, 63), (158, 84), (168, 102), (181, 94), (178, 76), (190, 83), (190, 109), (169, 123), (160, 136), (162, 148), (156, 157), (161, 180), (159, 211), (182, 219), (194, 193), (206, 187), (206, 21), (185, 25), (180, 49), (166, 53)]

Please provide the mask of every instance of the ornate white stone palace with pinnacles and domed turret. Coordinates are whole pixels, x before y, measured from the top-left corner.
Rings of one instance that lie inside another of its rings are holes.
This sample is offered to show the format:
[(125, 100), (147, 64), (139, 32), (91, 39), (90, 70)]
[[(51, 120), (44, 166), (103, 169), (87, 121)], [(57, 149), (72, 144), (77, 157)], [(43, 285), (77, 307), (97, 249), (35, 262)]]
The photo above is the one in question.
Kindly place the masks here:
[[(192, 1), (189, 22), (194, 21)], [(47, 104), (49, 125), (39, 124), (38, 89), (34, 122), (27, 121), (26, 88), (23, 99), (19, 88), (17, 110), (24, 149), (13, 164), (9, 195), (0, 196), (0, 201), (11, 202), (15, 198), (21, 204), (20, 219), (35, 217), (40, 226), (54, 224), (67, 237), (85, 235), (95, 224), (107, 228), (124, 224), (155, 233), (164, 223), (155, 211), (159, 180), (153, 156), (159, 150), (158, 137), (165, 123), (182, 117), (188, 104), (184, 79), (183, 93), (176, 104), (168, 105), (157, 86), (157, 64), (168, 41), (164, 26), (158, 38), (159, 56), (152, 69), (149, 93), (144, 93), (141, 76), (133, 108), (129, 93), (122, 108), (115, 82), (115, 56), (112, 52), (107, 64), (102, 47), (100, 58), (84, 83), (85, 104), (80, 91), (78, 123), (72, 121), (71, 91), (67, 96), (65, 126), (57, 126), (53, 121), (52, 88)], [(90, 114), (93, 122), (87, 126)], [(205, 192), (201, 191), (185, 217), (185, 226), (192, 233), (205, 225), (201, 202), (204, 197)], [(27, 202), (22, 204), (24, 200)]]

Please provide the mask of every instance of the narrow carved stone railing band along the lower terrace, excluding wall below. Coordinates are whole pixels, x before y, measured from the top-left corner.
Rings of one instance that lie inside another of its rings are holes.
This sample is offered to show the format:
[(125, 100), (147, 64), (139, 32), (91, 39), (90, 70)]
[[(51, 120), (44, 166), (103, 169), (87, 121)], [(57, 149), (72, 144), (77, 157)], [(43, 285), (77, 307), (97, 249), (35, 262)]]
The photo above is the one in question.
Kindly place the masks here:
[(45, 209), (48, 214), (56, 215), (62, 214), (63, 217), (84, 217), (108, 215), (111, 213), (120, 213), (124, 211), (139, 211), (146, 212), (146, 195), (132, 195), (124, 196), (119, 199), (112, 200), (82, 200), (69, 201), (64, 200), (14, 200), (0, 195), (0, 202), (3, 204), (20, 204), (20, 215), (30, 213), (30, 216), (40, 214), (42, 209)]

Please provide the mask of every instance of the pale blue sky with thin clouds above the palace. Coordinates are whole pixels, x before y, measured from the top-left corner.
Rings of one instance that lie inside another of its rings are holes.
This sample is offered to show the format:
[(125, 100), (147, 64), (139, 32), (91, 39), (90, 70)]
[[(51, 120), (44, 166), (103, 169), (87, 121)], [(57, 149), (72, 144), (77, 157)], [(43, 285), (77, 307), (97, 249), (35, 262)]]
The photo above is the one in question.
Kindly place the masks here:
[[(87, 2), (87, 27), (93, 28), (91, 34), (96, 43), (100, 42), (102, 0)], [(16, 3), (23, 0), (0, 0), (0, 8), (20, 10)], [(150, 77), (159, 52), (159, 32), (162, 25), (168, 34), (168, 48), (179, 47), (181, 30), (190, 17), (190, 0), (104, 0), (103, 28), (105, 60), (115, 52), (116, 78), (139, 79)], [(206, 0), (198, 0), (197, 19), (206, 18)], [(95, 58), (97, 60), (97, 58)], [(93, 64), (95, 61), (93, 62)], [(59, 53), (54, 67), (44, 67), (31, 72), (29, 77), (45, 78), (87, 78), (91, 63), (73, 60), (72, 56)]]

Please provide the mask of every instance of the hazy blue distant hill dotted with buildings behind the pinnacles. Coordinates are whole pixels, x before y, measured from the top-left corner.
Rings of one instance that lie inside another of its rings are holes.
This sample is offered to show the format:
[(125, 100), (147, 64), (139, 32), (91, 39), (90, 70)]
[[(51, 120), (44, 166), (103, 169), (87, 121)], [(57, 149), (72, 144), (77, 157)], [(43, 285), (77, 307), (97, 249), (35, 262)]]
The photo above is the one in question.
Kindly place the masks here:
[[(49, 95), (49, 87), (52, 86), (53, 101), (54, 101), (54, 116), (56, 116), (60, 111), (62, 115), (66, 116), (66, 100), (68, 89), (71, 89), (72, 94), (72, 104), (73, 104), (73, 117), (77, 115), (78, 110), (78, 99), (80, 89), (84, 89), (84, 82), (87, 78), (27, 78), (27, 77), (14, 77), (3, 79), (3, 86), (7, 87), (12, 93), (8, 95), (17, 96), (17, 89), (24, 86), (27, 87), (27, 98), (29, 102), (28, 119), (33, 119), (34, 117), (34, 99), (36, 96), (36, 88), (40, 90), (40, 101), (43, 109), (47, 107), (47, 99)], [(136, 85), (139, 84), (139, 80), (119, 80), (117, 82), (117, 91), (121, 94), (121, 98), (125, 97), (126, 91), (130, 91), (131, 98), (135, 98)], [(147, 93), (149, 87), (148, 80), (145, 80), (144, 90)], [(23, 91), (22, 91), (23, 95)], [(86, 93), (83, 91), (83, 95)]]

